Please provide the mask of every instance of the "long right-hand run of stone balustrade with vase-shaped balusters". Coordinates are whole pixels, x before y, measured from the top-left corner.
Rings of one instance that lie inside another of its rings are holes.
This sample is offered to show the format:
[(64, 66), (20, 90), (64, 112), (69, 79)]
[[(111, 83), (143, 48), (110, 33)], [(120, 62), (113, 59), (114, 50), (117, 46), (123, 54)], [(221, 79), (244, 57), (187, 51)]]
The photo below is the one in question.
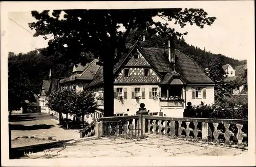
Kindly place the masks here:
[(248, 120), (143, 116), (143, 122), (143, 133), (209, 142), (213, 139), (216, 143), (222, 138), (225, 145), (230, 144), (230, 137), (237, 145), (243, 145), (242, 142), (248, 141)]

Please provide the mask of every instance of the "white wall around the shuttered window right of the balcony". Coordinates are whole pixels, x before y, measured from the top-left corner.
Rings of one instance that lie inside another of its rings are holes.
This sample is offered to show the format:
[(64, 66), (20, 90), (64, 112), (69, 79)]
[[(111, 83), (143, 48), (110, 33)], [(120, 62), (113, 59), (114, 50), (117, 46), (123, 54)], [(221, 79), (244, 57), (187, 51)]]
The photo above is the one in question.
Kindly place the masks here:
[[(205, 87), (206, 88), (206, 98), (192, 98), (192, 87)], [(199, 105), (201, 101), (205, 104), (214, 104), (214, 86), (186, 86), (186, 103), (191, 102), (192, 105)]]

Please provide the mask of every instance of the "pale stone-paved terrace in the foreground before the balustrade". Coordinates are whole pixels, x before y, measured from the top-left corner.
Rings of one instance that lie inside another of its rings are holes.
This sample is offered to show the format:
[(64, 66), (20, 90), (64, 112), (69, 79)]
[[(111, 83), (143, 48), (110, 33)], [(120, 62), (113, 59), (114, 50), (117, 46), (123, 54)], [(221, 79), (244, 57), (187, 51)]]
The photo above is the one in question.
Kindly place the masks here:
[[(175, 156), (241, 156), (247, 151), (221, 146), (191, 143), (166, 137), (150, 136), (141, 141), (118, 138), (70, 142), (66, 148), (48, 150), (56, 155), (29, 155), (22, 158), (85, 158), (85, 157), (175, 157)], [(58, 152), (59, 151), (59, 152)], [(58, 152), (58, 153), (57, 153)], [(41, 152), (43, 153), (43, 152)], [(40, 154), (42, 155), (42, 154)]]

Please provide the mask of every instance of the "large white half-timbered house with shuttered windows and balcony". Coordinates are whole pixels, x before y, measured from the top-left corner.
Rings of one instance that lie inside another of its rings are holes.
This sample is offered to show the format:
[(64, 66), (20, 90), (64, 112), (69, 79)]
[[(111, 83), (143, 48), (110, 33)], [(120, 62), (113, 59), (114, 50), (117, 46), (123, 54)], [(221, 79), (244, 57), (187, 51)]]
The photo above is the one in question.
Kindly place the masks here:
[[(144, 103), (150, 115), (183, 117), (187, 102), (214, 103), (212, 81), (198, 64), (174, 46), (169, 49), (140, 47), (123, 53), (114, 66), (114, 114), (135, 115)], [(86, 89), (103, 92), (103, 68), (99, 67)], [(102, 98), (97, 98), (102, 103)], [(103, 106), (101, 106), (103, 109)]]

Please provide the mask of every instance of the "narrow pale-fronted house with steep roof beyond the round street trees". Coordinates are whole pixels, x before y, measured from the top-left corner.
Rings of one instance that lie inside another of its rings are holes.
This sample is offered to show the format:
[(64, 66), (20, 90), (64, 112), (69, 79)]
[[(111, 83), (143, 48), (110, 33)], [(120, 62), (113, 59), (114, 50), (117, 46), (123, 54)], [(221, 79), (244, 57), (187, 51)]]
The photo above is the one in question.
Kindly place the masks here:
[(47, 96), (53, 91), (58, 90), (59, 88), (59, 79), (49, 79), (49, 80), (43, 80), (42, 81), (42, 88), (40, 90), (40, 112), (41, 113), (48, 113), (48, 114), (55, 114), (54, 111), (52, 111), (47, 105)]

